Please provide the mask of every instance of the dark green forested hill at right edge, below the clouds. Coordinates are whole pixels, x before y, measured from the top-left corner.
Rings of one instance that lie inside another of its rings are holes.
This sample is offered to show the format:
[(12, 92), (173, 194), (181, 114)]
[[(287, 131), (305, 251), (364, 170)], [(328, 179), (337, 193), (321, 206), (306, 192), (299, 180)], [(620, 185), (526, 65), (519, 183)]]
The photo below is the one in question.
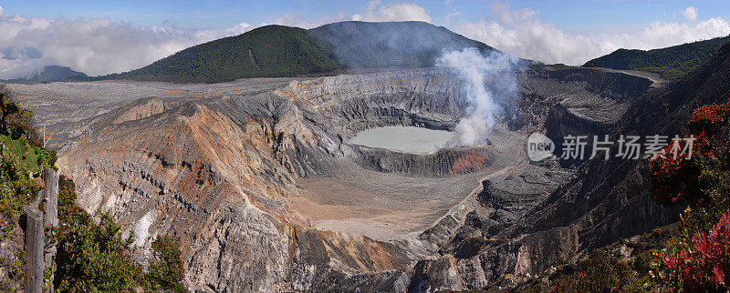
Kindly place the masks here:
[(730, 35), (649, 51), (619, 49), (583, 66), (648, 71), (672, 80), (702, 64), (729, 40)]

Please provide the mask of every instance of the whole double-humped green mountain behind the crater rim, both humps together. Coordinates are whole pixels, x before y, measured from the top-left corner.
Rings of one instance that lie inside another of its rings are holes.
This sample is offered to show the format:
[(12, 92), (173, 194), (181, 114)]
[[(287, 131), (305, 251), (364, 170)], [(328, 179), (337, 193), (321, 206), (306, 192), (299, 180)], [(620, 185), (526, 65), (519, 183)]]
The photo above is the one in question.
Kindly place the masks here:
[(443, 50), (493, 50), (423, 22), (342, 22), (311, 30), (267, 25), (184, 49), (137, 70), (96, 79), (215, 83), (245, 77), (323, 74), (339, 68), (433, 66)]

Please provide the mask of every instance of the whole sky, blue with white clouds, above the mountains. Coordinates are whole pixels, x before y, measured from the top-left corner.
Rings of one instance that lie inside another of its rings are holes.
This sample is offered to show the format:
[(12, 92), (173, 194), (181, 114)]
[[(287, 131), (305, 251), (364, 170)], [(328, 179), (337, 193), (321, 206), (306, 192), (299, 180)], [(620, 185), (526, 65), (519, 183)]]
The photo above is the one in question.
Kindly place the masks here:
[(582, 65), (618, 48), (730, 35), (730, 1), (0, 0), (0, 78), (48, 65), (106, 75), (261, 25), (343, 20), (421, 20), (515, 56)]

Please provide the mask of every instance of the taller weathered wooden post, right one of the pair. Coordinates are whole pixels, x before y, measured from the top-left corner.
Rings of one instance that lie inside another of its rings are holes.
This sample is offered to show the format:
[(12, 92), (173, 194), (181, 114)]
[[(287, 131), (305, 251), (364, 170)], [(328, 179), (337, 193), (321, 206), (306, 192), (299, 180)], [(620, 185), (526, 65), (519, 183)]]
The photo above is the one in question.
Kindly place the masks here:
[[(43, 170), (43, 194), (46, 204), (46, 224), (48, 227), (58, 227), (58, 173), (52, 168)], [(54, 243), (46, 253), (46, 267), (51, 268), (51, 272), (56, 273), (56, 244)], [(53, 275), (51, 274), (50, 283), (53, 284)], [(53, 292), (53, 285), (47, 288)]]

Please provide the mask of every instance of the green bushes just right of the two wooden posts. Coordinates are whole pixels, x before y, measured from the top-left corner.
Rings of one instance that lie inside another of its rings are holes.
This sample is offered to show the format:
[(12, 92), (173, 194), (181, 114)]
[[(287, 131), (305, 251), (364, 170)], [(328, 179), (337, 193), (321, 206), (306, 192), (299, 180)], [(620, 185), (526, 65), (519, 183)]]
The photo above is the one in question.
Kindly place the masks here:
[(99, 224), (76, 205), (73, 181), (61, 177), (58, 195), (56, 287), (60, 291), (130, 291), (135, 288), (182, 292), (184, 278), (180, 248), (170, 237), (152, 244), (155, 259), (149, 273), (133, 259), (132, 235), (121, 236), (121, 227), (109, 214)]

